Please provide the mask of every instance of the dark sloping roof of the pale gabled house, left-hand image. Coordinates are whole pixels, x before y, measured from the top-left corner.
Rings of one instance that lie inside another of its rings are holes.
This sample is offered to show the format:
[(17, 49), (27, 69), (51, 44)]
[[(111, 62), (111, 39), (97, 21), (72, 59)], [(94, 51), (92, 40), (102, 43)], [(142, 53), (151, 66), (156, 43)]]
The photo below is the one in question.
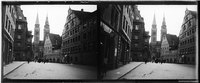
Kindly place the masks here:
[(55, 49), (59, 49), (61, 47), (62, 38), (60, 37), (60, 35), (49, 33), (49, 38), (52, 46), (54, 46)]

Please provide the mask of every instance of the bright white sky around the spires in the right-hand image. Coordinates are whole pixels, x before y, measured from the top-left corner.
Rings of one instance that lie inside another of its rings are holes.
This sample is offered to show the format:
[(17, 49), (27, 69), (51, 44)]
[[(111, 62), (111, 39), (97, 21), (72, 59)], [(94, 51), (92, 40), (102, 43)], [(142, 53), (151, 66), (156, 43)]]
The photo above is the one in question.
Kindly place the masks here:
[(138, 5), (140, 14), (144, 18), (145, 30), (150, 32), (149, 35), (151, 35), (151, 28), (155, 13), (157, 24), (157, 41), (160, 41), (160, 30), (163, 21), (163, 15), (165, 15), (167, 33), (178, 36), (183, 23), (186, 8), (197, 11), (196, 5)]

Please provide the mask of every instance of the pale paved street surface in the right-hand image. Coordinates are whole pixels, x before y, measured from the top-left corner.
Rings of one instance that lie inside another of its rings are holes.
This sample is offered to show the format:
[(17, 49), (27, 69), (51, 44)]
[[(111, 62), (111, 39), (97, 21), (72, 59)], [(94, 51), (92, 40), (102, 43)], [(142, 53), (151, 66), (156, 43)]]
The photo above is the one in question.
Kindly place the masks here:
[(121, 79), (196, 79), (196, 68), (195, 65), (149, 62)]

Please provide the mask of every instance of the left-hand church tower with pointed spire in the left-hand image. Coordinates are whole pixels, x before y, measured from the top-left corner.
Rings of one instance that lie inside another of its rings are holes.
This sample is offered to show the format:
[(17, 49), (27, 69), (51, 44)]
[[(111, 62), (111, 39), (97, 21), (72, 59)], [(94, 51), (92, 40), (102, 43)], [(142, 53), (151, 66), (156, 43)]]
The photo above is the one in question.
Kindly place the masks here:
[(40, 24), (39, 24), (39, 18), (38, 14), (36, 17), (36, 22), (35, 22), (35, 29), (34, 29), (34, 44), (38, 45), (40, 41)]

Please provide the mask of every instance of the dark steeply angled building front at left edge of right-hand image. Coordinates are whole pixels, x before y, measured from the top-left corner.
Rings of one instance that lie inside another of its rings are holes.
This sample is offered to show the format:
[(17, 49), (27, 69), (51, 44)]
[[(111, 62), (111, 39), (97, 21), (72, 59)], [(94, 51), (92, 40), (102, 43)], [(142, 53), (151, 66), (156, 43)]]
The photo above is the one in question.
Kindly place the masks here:
[[(129, 5), (100, 6), (100, 56), (102, 67), (114, 69), (131, 61), (132, 8)], [(130, 18), (131, 17), (131, 18)]]

